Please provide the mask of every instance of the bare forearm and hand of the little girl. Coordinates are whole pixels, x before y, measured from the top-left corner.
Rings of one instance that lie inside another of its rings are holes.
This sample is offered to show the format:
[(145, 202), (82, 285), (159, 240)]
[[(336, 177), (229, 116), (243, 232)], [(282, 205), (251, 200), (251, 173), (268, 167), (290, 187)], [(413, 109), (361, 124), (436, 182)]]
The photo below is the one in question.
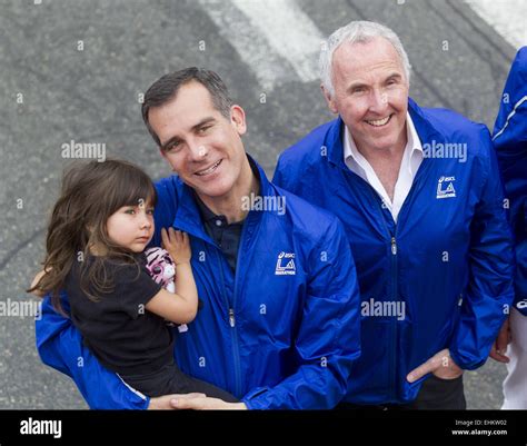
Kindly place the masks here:
[(193, 320), (198, 311), (198, 290), (190, 266), (192, 256), (189, 236), (169, 228), (161, 229), (163, 248), (176, 264), (177, 293), (161, 289), (153, 296), (146, 308), (175, 324), (187, 324)]

